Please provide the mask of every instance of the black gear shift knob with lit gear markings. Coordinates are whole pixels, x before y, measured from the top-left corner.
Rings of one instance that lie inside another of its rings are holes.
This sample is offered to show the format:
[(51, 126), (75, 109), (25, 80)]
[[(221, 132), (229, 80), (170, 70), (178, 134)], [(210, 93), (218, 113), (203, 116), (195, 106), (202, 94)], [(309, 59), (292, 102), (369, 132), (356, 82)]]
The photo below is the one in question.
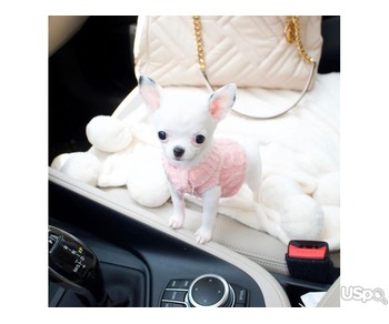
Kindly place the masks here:
[(54, 226), (49, 226), (49, 275), (89, 306), (103, 306), (109, 300), (94, 253), (79, 239)]

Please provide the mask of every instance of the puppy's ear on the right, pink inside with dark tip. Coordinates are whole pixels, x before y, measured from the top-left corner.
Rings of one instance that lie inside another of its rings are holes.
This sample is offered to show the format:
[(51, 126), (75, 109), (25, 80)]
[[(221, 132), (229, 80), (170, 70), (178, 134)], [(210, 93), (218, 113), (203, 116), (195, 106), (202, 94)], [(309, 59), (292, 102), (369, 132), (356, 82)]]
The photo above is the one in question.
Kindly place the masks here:
[(209, 112), (218, 121), (222, 120), (232, 108), (237, 95), (237, 85), (229, 83), (209, 98)]

